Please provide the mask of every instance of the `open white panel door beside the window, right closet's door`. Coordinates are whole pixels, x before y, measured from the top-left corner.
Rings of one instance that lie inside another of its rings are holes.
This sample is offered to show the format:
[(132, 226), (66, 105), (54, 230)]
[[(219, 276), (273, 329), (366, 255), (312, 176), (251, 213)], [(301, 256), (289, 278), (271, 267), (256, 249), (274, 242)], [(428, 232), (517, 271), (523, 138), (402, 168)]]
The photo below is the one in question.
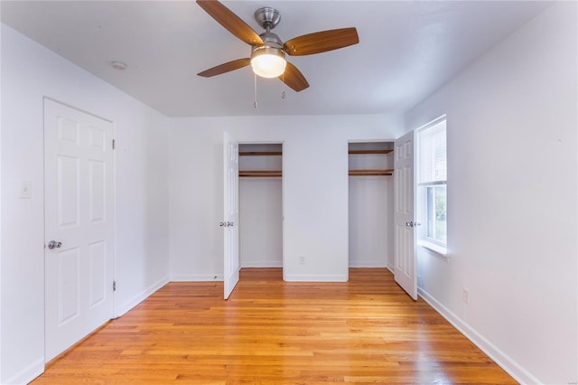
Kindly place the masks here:
[(414, 131), (396, 140), (394, 151), (395, 269), (396, 282), (417, 299), (415, 258), (415, 146)]

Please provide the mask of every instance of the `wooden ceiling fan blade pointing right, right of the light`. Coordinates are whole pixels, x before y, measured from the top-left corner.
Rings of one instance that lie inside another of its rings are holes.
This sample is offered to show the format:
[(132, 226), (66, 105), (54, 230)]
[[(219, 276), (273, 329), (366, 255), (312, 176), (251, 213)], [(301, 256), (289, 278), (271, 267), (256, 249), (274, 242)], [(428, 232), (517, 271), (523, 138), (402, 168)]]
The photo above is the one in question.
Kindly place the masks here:
[(284, 43), (285, 52), (293, 56), (312, 55), (337, 50), (359, 42), (355, 27), (308, 33)]

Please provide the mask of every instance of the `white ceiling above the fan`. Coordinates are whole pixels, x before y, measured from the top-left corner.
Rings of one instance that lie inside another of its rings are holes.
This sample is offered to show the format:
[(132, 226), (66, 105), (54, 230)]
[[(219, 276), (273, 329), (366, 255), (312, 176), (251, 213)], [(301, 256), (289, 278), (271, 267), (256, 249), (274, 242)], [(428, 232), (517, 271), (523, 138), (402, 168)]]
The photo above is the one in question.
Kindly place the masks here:
[[(549, 3), (536, 1), (224, 1), (257, 33), (274, 6), (286, 41), (355, 26), (359, 44), (290, 57), (310, 88), (257, 80), (250, 67), (201, 70), (246, 58), (250, 47), (193, 0), (6, 1), (2, 22), (169, 117), (402, 113), (513, 33)], [(124, 61), (114, 70), (110, 61)], [(285, 92), (285, 98), (282, 93)]]

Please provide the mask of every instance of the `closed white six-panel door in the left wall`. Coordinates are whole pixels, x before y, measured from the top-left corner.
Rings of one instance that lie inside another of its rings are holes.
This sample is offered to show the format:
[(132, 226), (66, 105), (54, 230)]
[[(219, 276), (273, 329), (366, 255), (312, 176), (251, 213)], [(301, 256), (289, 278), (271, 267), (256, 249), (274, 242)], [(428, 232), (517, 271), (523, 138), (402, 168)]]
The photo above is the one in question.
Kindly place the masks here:
[(113, 317), (113, 134), (44, 99), (46, 362)]

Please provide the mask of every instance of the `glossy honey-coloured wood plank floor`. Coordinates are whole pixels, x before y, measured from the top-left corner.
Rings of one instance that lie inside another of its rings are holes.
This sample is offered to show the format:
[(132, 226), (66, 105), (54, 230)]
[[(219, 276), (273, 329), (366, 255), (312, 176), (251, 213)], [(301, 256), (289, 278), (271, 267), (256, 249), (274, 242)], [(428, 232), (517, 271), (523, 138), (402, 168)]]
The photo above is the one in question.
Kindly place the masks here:
[(32, 383), (516, 383), (384, 268), (347, 283), (243, 269), (222, 295), (222, 282), (168, 284)]

